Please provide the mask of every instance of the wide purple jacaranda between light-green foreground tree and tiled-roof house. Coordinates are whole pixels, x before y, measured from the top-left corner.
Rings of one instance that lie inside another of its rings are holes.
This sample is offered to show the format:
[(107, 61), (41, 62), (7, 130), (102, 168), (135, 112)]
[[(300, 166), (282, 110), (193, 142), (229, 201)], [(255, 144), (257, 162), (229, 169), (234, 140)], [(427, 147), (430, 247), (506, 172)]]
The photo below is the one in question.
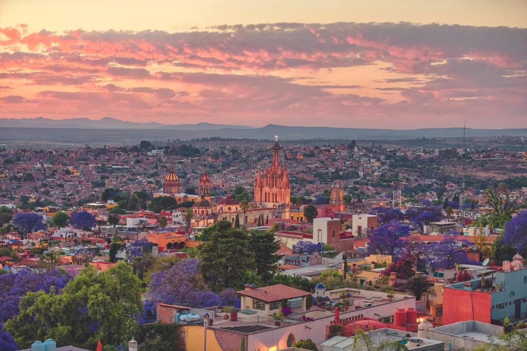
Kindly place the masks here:
[(238, 298), (230, 290), (217, 295), (210, 291), (199, 271), (199, 259), (188, 258), (174, 266), (153, 273), (148, 297), (161, 298), (163, 303), (194, 308), (237, 305)]

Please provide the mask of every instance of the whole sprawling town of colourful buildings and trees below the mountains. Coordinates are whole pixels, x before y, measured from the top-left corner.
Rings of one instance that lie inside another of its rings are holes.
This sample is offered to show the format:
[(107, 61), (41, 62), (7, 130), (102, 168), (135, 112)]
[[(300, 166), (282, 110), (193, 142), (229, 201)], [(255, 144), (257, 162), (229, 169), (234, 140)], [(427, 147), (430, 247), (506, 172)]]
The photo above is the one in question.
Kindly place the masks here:
[(0, 350), (525, 350), (514, 143), (4, 146)]

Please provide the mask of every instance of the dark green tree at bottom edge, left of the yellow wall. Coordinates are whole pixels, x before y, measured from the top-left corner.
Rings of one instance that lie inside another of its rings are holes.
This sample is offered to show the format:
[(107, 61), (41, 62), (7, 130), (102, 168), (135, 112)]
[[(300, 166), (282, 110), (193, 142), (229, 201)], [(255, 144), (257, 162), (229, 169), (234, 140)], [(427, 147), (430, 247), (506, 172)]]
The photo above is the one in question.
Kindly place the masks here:
[(137, 341), (140, 351), (185, 351), (181, 326), (167, 323), (140, 325)]

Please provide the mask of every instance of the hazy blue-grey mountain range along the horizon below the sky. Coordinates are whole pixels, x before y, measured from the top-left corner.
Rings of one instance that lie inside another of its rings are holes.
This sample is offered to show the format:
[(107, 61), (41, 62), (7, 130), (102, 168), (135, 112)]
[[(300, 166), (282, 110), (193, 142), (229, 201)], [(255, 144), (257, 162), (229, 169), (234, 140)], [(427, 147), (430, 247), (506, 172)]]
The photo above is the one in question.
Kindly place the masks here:
[[(67, 132), (66, 132), (67, 129)], [(301, 127), (268, 124), (264, 127), (224, 125), (212, 123), (168, 125), (156, 122), (137, 123), (104, 117), (99, 120), (71, 118), (54, 120), (49, 118), (0, 118), (0, 143), (26, 141), (34, 143), (94, 143), (130, 145), (132, 141), (167, 139), (189, 140), (203, 137), (248, 138), (272, 140), (278, 135), (281, 140), (299, 139), (416, 139), (463, 137), (463, 128), (422, 129), (373, 129)], [(467, 137), (525, 136), (523, 129), (472, 129), (466, 128)]]

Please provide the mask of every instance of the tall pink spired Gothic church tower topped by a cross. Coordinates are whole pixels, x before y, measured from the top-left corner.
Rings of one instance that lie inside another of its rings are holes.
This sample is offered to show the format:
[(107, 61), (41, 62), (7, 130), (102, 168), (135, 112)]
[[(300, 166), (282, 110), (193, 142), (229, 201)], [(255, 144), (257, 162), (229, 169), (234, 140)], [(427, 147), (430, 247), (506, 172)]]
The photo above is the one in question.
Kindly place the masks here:
[(254, 200), (261, 206), (286, 209), (289, 208), (291, 199), (289, 171), (287, 166), (281, 165), (278, 136), (275, 136), (275, 139), (271, 166), (264, 167), (263, 175), (258, 171), (254, 185)]

